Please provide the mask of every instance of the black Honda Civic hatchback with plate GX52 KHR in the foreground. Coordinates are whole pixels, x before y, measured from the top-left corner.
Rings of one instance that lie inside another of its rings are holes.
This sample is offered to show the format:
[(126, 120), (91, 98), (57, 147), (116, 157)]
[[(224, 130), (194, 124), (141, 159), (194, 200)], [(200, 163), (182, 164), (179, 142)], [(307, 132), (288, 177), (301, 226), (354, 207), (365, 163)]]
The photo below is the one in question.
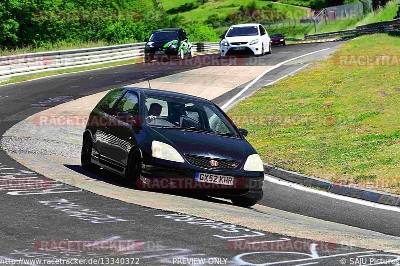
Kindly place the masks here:
[(91, 111), (81, 165), (101, 166), (136, 188), (194, 189), (249, 207), (262, 199), (264, 177), (246, 135), (209, 100), (122, 87)]

